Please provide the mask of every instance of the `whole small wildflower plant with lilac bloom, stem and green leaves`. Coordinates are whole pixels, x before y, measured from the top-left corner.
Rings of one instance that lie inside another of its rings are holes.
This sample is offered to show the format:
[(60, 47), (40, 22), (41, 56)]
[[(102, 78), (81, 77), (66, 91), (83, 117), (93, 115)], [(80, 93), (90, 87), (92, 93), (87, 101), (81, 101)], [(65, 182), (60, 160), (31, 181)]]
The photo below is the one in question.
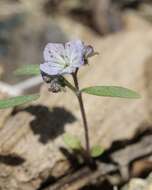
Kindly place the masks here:
[[(44, 82), (49, 85), (49, 91), (52, 93), (65, 91), (65, 88), (72, 90), (80, 105), (86, 146), (84, 148), (76, 136), (67, 133), (63, 135), (64, 142), (73, 151), (82, 151), (87, 160), (90, 160), (91, 157), (100, 156), (103, 153), (100, 146), (90, 147), (89, 128), (82, 94), (129, 99), (140, 98), (140, 95), (133, 90), (119, 86), (92, 86), (80, 89), (78, 81), (79, 69), (88, 64), (90, 57), (98, 54), (92, 46), (85, 45), (81, 40), (70, 41), (65, 44), (49, 43), (46, 45), (43, 54), (44, 63), (40, 64), (40, 66), (26, 65), (18, 69), (16, 74), (41, 75)], [(66, 75), (72, 76), (73, 84), (65, 78)], [(39, 94), (34, 94), (1, 100), (0, 109), (19, 106), (37, 100), (39, 97)]]

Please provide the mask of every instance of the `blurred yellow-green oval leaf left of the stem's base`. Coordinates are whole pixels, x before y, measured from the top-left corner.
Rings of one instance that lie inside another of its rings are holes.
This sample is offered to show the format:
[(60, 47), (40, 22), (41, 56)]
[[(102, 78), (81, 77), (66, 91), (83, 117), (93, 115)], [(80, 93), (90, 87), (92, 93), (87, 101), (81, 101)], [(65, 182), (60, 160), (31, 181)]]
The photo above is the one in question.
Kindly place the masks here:
[(64, 143), (71, 148), (72, 150), (80, 150), (82, 149), (82, 145), (80, 140), (71, 134), (65, 133), (63, 135)]

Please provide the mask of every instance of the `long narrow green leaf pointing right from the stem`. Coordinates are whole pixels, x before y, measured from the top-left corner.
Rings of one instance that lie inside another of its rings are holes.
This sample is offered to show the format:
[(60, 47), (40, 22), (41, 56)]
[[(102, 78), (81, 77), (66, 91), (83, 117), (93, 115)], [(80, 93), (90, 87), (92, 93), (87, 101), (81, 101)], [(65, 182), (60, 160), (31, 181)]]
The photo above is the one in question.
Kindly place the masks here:
[(130, 89), (123, 88), (120, 86), (93, 86), (84, 88), (81, 92), (96, 96), (108, 96), (108, 97), (119, 97), (119, 98), (140, 98), (140, 95)]

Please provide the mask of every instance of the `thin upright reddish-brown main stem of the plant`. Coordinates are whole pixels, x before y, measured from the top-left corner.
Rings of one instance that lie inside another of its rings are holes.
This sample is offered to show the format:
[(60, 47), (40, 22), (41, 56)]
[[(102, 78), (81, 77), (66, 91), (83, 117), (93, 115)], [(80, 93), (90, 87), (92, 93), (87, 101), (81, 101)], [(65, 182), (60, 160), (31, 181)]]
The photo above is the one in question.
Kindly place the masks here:
[(86, 113), (84, 109), (84, 104), (83, 104), (83, 99), (82, 99), (82, 93), (79, 90), (79, 83), (77, 79), (77, 72), (72, 74), (75, 88), (77, 90), (77, 98), (78, 102), (80, 105), (80, 110), (81, 110), (81, 115), (82, 115), (82, 120), (83, 120), (83, 126), (84, 126), (84, 132), (85, 132), (85, 141), (86, 141), (86, 152), (87, 152), (87, 157), (90, 159), (90, 142), (89, 142), (89, 130), (88, 130), (88, 124), (87, 124), (87, 119), (86, 119)]

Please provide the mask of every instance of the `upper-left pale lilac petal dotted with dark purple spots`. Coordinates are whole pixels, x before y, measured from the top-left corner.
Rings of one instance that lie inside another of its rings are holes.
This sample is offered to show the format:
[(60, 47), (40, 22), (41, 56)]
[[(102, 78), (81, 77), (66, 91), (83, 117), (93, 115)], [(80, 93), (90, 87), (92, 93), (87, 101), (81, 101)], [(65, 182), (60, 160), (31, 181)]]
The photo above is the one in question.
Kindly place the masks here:
[(64, 45), (60, 43), (48, 43), (44, 48), (44, 60), (51, 61), (58, 64), (64, 64)]

